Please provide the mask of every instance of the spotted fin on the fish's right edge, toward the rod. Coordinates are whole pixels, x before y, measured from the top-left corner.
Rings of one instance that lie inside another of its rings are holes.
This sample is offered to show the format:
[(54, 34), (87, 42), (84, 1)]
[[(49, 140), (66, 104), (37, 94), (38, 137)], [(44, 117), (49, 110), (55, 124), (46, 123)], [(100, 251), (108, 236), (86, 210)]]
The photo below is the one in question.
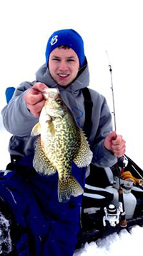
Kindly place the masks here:
[(79, 167), (85, 167), (90, 165), (92, 162), (93, 153), (90, 150), (89, 142), (87, 141), (86, 136), (82, 129), (80, 129), (81, 135), (81, 145), (79, 147), (79, 152), (77, 152), (76, 157), (74, 157), (74, 163)]

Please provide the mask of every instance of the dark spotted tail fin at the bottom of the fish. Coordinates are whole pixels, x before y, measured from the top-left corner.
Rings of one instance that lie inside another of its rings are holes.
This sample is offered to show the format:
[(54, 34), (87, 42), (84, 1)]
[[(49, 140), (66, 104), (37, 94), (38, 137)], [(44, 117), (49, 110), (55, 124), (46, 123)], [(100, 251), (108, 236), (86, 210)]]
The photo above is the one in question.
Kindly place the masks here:
[(78, 181), (70, 175), (64, 180), (59, 179), (58, 183), (58, 198), (60, 203), (66, 203), (71, 196), (79, 196), (84, 193), (82, 186)]

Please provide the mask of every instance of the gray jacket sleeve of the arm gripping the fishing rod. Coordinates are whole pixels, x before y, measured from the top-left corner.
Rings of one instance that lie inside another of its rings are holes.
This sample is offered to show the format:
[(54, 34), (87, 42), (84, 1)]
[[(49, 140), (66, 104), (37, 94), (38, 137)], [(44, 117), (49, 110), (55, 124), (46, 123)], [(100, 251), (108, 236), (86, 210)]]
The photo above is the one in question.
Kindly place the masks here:
[(98, 97), (94, 108), (96, 111), (93, 111), (93, 127), (97, 127), (97, 129), (94, 134), (94, 142), (92, 145), (92, 163), (102, 168), (111, 167), (117, 163), (117, 157), (104, 147), (104, 140), (105, 137), (107, 137), (107, 134), (112, 132), (112, 114), (109, 111), (109, 106), (103, 96)]

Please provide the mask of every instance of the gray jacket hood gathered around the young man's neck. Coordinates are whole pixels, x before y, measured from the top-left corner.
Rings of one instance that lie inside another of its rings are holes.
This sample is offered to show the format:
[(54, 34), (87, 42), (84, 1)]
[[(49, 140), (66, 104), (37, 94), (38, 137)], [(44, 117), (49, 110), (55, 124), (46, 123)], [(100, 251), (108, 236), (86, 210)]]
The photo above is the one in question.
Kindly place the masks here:
[[(46, 66), (46, 64), (42, 65), (39, 70), (36, 72), (36, 81), (40, 81), (41, 83), (45, 83), (46, 86), (49, 87), (57, 87), (57, 83), (54, 81), (54, 79), (51, 77), (49, 73), (49, 68)], [(58, 85), (59, 86), (59, 85)], [(77, 76), (77, 78), (69, 84), (66, 88), (68, 90), (76, 92), (79, 91), (79, 89), (89, 86), (89, 67), (88, 64), (86, 68), (83, 69), (82, 73)], [(60, 86), (64, 87), (64, 86)]]

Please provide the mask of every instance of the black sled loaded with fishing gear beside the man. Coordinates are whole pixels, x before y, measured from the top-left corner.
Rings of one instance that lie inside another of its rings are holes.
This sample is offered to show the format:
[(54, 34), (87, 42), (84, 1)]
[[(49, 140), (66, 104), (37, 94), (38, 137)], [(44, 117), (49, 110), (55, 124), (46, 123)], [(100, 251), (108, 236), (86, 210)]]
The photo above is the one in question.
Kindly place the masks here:
[[(124, 157), (127, 166), (122, 175), (122, 163), (107, 169), (91, 165), (82, 200), (77, 249), (124, 228), (129, 232), (135, 225), (143, 227), (143, 171), (127, 155)], [(119, 186), (123, 191), (124, 209), (120, 209)]]

